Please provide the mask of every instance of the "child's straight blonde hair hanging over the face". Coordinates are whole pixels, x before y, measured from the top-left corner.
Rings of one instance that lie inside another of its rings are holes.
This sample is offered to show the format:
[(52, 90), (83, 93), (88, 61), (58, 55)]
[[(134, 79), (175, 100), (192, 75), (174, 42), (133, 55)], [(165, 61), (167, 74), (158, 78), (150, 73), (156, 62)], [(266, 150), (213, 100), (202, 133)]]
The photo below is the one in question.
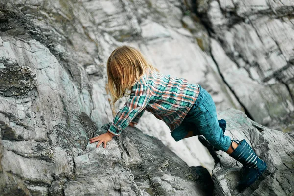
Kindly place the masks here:
[[(143, 54), (130, 46), (116, 48), (107, 60), (108, 88), (112, 103), (123, 96), (149, 71), (158, 71), (147, 62)], [(114, 72), (117, 73), (116, 77)]]

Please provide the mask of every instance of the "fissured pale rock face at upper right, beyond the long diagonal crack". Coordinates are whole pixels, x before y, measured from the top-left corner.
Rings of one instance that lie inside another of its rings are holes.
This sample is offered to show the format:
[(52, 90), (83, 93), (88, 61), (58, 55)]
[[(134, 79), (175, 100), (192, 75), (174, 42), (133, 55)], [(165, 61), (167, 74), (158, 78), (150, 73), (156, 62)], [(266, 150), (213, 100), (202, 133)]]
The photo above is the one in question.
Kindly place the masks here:
[(213, 35), (211, 56), (246, 114), (260, 124), (293, 130), (294, 1), (192, 5)]

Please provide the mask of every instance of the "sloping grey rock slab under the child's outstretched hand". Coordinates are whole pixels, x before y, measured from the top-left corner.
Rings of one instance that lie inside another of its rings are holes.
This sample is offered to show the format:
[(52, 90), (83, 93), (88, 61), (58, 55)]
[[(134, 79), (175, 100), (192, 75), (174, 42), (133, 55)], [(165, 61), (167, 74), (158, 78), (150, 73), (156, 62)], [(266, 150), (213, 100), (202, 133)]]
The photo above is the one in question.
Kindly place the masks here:
[[(108, 125), (96, 135), (104, 133)], [(202, 166), (189, 168), (154, 137), (128, 127), (106, 149), (88, 144), (74, 159), (76, 180), (64, 185), (65, 195), (203, 196), (213, 182)]]

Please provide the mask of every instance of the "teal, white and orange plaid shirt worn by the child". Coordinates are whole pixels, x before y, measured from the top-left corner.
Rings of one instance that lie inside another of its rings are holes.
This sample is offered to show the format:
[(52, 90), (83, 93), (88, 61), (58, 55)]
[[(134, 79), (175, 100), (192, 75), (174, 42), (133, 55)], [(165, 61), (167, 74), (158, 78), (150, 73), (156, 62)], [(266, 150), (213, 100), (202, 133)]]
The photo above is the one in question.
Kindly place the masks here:
[(186, 79), (156, 71), (150, 72), (132, 87), (129, 99), (116, 114), (108, 131), (119, 135), (130, 122), (138, 123), (147, 110), (163, 120), (172, 132), (182, 123), (198, 95), (198, 84), (189, 84)]

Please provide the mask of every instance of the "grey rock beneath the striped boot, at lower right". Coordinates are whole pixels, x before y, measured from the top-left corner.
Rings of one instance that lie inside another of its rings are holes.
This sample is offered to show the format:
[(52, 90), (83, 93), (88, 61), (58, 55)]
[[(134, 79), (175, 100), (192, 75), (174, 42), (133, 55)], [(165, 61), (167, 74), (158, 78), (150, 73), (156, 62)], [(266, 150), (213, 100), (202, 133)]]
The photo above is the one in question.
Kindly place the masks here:
[(212, 152), (216, 165), (212, 171), (215, 196), (291, 196), (294, 192), (294, 135), (264, 127), (250, 120), (243, 112), (226, 110), (226, 135), (234, 140), (245, 139), (268, 168), (242, 193), (237, 190), (242, 164), (224, 152)]

